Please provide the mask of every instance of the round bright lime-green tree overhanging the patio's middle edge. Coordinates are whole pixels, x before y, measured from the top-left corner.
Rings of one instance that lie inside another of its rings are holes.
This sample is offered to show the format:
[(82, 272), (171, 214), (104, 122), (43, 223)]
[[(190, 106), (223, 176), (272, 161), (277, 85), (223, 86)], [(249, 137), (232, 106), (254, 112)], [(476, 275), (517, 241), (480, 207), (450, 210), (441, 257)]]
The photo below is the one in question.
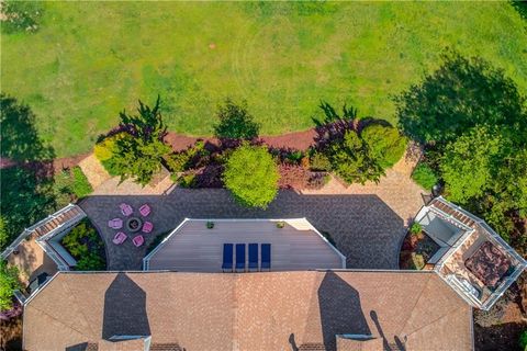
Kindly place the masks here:
[(234, 199), (248, 207), (266, 208), (278, 193), (278, 167), (266, 147), (243, 144), (225, 165), (223, 181)]

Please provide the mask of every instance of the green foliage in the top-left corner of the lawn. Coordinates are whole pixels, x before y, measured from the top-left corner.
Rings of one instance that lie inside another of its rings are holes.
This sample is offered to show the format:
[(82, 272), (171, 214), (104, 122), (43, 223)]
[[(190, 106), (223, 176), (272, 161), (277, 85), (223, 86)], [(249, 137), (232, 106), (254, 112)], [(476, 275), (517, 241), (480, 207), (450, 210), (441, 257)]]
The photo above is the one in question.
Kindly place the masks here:
[(2, 20), (2, 31), (5, 33), (36, 32), (44, 12), (44, 7), (38, 1), (4, 0), (0, 9), (5, 16)]

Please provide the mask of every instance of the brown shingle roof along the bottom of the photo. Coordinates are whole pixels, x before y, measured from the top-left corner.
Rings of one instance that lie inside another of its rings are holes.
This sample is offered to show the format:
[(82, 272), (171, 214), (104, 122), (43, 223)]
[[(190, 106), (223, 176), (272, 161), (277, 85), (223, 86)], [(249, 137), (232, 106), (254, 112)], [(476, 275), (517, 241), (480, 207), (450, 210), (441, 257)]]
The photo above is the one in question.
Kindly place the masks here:
[(469, 350), (470, 317), (431, 272), (59, 273), (25, 307), (24, 347), (144, 335), (188, 351), (335, 350), (335, 335), (363, 333)]

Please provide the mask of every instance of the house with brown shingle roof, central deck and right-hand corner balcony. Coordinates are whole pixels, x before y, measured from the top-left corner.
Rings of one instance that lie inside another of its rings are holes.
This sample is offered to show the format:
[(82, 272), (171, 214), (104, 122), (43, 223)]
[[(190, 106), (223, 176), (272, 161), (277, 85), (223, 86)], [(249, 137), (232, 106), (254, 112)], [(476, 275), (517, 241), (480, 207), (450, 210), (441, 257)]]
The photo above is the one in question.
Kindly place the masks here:
[(145, 257), (144, 271), (64, 270), (47, 280), (24, 304), (23, 346), (472, 350), (472, 308), (492, 307), (527, 263), (442, 197), (415, 220), (440, 247), (428, 270), (347, 270), (330, 238), (305, 218), (187, 218)]

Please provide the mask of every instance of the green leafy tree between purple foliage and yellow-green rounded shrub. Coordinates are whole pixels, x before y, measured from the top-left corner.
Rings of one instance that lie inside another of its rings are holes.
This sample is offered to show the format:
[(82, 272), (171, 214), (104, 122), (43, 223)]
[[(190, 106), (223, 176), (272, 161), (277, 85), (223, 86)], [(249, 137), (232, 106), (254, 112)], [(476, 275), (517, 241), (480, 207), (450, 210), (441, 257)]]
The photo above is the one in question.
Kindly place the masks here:
[(355, 131), (347, 131), (341, 140), (334, 140), (324, 149), (324, 154), (335, 171), (348, 183), (378, 182), (384, 174), (382, 167), (368, 152), (366, 143)]

